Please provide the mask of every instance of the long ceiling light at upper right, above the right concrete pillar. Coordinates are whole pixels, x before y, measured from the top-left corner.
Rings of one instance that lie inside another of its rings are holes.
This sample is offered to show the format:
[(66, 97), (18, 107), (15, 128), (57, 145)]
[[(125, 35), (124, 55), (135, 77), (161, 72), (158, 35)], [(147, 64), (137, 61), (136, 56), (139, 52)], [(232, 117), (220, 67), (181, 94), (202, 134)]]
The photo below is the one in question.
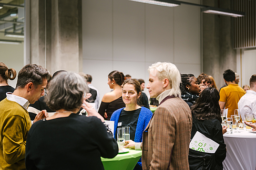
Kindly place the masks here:
[(230, 17), (243, 17), (245, 15), (245, 13), (243, 13), (243, 12), (238, 12), (238, 11), (230, 10), (230, 9), (216, 8), (216, 7), (202, 8), (201, 12), (209, 13), (209, 14), (230, 16)]

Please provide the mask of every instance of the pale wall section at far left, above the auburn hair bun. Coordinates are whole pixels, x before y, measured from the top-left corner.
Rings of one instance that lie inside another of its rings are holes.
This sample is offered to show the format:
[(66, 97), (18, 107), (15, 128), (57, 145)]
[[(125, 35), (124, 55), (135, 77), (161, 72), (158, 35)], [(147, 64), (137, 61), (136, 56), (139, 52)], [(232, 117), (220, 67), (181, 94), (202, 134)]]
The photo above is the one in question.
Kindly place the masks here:
[[(8, 40), (23, 40), (21, 38), (5, 37), (4, 33), (0, 32), (0, 39)], [(2, 44), (0, 43), (0, 62), (7, 65), (9, 69), (15, 69), (17, 76), (15, 80), (8, 80), (8, 84), (12, 87), (16, 87), (18, 78), (18, 72), (22, 69), (23, 65), (23, 43), (22, 44)]]

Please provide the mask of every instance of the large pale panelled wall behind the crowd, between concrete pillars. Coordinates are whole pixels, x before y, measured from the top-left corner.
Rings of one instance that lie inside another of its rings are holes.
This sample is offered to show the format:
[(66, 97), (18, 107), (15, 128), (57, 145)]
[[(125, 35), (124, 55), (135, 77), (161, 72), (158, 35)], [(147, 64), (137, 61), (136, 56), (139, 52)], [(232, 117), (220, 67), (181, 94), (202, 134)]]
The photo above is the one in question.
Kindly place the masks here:
[(83, 72), (93, 76), (101, 98), (110, 91), (107, 76), (113, 70), (146, 84), (148, 66), (157, 61), (176, 64), (180, 73), (201, 73), (200, 7), (128, 0), (83, 0), (82, 5)]

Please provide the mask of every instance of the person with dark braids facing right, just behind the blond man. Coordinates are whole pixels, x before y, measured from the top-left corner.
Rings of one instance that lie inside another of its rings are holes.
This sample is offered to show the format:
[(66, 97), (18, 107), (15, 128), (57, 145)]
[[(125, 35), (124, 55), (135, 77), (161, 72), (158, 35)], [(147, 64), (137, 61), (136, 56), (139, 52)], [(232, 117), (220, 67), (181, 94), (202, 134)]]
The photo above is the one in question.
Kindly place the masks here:
[(191, 107), (200, 94), (200, 86), (193, 74), (181, 74), (181, 98)]

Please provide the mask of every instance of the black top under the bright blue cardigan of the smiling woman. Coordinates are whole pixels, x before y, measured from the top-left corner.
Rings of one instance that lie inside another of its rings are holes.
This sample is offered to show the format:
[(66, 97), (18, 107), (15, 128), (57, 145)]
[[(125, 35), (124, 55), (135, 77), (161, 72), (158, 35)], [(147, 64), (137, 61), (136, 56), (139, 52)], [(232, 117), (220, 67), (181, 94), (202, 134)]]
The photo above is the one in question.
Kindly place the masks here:
[[(137, 127), (137, 122), (139, 118), (141, 108), (131, 111), (125, 111), (122, 109), (121, 114), (119, 116), (117, 128), (128, 126), (130, 127), (130, 140), (134, 141), (135, 138), (135, 131)], [(117, 131), (116, 131), (116, 138), (117, 138)]]

